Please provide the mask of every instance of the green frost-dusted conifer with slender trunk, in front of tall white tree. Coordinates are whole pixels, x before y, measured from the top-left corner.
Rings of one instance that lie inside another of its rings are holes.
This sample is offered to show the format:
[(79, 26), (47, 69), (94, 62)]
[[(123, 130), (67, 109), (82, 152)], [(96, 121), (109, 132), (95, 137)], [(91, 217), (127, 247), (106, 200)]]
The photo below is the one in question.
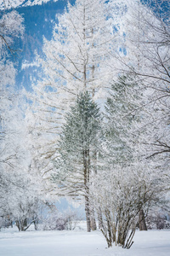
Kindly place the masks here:
[(99, 129), (99, 108), (88, 92), (80, 94), (65, 116), (54, 180), (64, 195), (84, 197), (88, 231), (91, 230), (90, 187), (96, 169), (96, 152), (99, 152)]

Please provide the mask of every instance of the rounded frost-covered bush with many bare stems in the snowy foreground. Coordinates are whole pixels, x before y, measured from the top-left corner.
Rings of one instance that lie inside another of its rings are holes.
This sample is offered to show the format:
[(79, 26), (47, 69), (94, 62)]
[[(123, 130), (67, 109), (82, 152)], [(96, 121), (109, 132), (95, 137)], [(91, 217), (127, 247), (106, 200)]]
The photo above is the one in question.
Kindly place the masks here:
[(115, 244), (130, 248), (139, 225), (139, 212), (141, 209), (147, 212), (159, 200), (161, 184), (142, 164), (115, 166), (115, 170), (105, 172), (104, 176), (97, 175), (94, 195), (100, 230), (108, 247)]

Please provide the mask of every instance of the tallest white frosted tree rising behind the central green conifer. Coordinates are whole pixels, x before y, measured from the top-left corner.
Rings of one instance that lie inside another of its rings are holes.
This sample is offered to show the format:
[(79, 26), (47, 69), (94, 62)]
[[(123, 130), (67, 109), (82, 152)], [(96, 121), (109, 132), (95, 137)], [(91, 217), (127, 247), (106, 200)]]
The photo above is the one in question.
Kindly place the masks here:
[(40, 141), (37, 158), (46, 158), (42, 172), (47, 175), (53, 168), (50, 159), (55, 157), (65, 113), (77, 95), (88, 90), (95, 99), (105, 98), (113, 76), (111, 53), (119, 49), (116, 27), (123, 6), (116, 3), (114, 17), (111, 2), (78, 0), (73, 6), (68, 3), (65, 13), (57, 15), (53, 38), (44, 39), (43, 60), (38, 56), (42, 79), (33, 88), (33, 108), (37, 142)]

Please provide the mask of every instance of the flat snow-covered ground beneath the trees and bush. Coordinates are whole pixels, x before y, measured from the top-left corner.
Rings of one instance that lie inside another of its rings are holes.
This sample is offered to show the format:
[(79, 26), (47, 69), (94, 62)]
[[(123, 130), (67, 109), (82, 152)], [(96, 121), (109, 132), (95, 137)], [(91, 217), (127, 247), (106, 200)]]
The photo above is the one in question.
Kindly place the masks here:
[(73, 231), (2, 230), (1, 256), (168, 256), (170, 230), (137, 231), (133, 246), (107, 248), (99, 231), (87, 233)]

